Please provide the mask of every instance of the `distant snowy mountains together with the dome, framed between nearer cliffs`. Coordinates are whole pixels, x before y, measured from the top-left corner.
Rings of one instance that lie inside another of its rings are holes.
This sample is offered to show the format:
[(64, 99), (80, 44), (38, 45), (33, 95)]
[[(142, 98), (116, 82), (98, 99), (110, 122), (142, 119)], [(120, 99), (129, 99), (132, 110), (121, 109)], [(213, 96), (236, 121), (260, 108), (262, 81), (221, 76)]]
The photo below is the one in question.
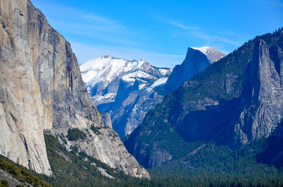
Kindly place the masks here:
[(178, 88), (204, 68), (225, 55), (212, 47), (189, 47), (183, 64), (156, 68), (147, 61), (128, 61), (100, 56), (81, 64), (88, 93), (106, 124), (124, 138), (137, 128), (147, 111), (162, 101), (163, 95)]

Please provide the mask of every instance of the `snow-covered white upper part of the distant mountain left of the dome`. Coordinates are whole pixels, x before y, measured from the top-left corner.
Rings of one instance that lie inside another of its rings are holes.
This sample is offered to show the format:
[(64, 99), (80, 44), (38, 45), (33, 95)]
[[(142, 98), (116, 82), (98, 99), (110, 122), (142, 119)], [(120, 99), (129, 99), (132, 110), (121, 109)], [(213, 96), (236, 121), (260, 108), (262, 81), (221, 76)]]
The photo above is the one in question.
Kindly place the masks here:
[[(133, 83), (139, 80), (156, 80), (171, 73), (169, 68), (155, 68), (145, 60), (117, 59), (110, 55), (98, 56), (96, 59), (81, 64), (81, 76), (88, 91), (95, 86), (96, 92), (104, 90), (115, 79)], [(98, 93), (97, 93), (98, 94)]]

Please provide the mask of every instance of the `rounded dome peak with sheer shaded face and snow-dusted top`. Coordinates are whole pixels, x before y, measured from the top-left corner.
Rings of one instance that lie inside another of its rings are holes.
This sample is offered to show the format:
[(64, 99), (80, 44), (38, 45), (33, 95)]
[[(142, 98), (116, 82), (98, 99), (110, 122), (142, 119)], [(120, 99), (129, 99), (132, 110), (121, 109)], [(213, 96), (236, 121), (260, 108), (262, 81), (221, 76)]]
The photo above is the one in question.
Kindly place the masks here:
[(189, 47), (187, 56), (182, 64), (175, 66), (166, 82), (166, 90), (176, 90), (185, 80), (189, 80), (197, 73), (204, 71), (207, 66), (222, 59), (225, 55), (212, 47)]

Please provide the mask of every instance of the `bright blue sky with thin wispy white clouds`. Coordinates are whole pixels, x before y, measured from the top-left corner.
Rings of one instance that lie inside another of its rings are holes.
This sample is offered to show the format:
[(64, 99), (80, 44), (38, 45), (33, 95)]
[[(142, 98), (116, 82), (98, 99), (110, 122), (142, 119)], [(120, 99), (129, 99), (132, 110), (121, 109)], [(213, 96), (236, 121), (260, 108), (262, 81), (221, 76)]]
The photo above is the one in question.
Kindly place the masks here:
[(79, 64), (110, 54), (173, 67), (187, 47), (228, 54), (283, 27), (283, 0), (31, 1), (71, 43)]

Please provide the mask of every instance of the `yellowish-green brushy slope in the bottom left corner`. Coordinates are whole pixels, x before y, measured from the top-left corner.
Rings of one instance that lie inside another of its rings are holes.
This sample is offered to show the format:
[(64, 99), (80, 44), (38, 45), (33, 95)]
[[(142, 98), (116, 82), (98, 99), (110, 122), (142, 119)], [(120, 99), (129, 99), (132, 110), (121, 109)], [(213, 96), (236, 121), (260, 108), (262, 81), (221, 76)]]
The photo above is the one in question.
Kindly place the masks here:
[[(25, 167), (13, 163), (11, 160), (0, 155), (0, 168), (11, 174), (13, 178), (18, 179), (18, 181), (30, 183), (32, 186), (42, 186), (50, 187), (51, 185), (45, 181), (40, 180), (33, 171), (26, 169)], [(0, 186), (5, 186), (6, 181), (1, 181)]]

